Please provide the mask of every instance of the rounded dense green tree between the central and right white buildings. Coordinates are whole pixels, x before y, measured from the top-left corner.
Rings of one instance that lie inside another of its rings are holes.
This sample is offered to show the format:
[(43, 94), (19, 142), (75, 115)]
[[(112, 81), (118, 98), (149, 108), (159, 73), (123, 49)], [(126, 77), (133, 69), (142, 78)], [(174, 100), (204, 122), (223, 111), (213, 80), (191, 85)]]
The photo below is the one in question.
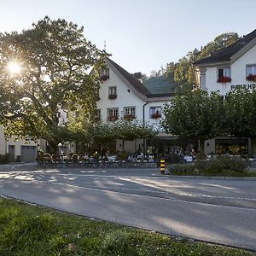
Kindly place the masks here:
[(206, 90), (188, 91), (183, 96), (172, 98), (164, 109), (162, 121), (166, 132), (185, 138), (197, 138), (201, 154), (204, 154), (204, 142), (208, 138), (221, 136), (224, 103), (218, 93), (209, 94)]

